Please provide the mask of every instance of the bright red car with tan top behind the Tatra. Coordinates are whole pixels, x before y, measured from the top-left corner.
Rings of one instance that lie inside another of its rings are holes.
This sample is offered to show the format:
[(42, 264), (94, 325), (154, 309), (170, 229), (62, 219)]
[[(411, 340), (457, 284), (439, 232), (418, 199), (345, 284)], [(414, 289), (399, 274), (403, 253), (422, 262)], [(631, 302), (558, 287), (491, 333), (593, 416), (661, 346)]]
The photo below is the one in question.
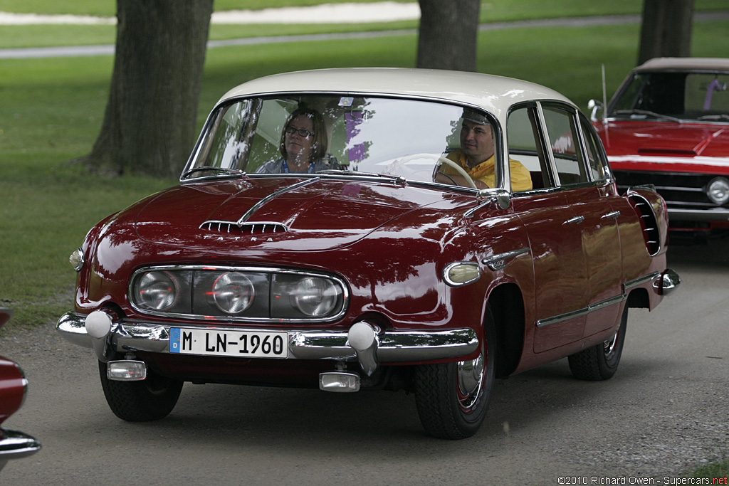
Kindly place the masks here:
[(618, 190), (655, 186), (677, 235), (729, 229), (728, 86), (729, 59), (656, 58), (593, 110)]

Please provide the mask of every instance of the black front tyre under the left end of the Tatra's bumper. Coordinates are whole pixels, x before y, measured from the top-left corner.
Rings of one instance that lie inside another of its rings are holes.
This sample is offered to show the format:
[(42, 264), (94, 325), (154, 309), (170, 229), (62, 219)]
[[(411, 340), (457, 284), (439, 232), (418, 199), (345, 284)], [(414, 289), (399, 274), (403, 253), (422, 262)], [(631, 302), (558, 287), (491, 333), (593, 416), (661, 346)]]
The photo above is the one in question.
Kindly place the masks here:
[(143, 381), (114, 381), (106, 377), (106, 363), (99, 361), (101, 387), (114, 415), (129, 422), (160, 420), (172, 412), (182, 391), (182, 381), (147, 370)]

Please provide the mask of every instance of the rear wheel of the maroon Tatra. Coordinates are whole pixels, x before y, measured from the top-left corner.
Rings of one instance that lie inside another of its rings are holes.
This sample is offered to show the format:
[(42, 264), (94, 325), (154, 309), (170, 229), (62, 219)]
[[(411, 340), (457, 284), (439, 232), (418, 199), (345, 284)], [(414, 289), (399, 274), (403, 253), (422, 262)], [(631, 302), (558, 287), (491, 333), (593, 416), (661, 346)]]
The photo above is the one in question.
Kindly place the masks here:
[(625, 325), (628, 324), (628, 306), (620, 318), (620, 327), (612, 338), (580, 353), (569, 356), (569, 369), (580, 380), (602, 381), (615, 375), (625, 342)]

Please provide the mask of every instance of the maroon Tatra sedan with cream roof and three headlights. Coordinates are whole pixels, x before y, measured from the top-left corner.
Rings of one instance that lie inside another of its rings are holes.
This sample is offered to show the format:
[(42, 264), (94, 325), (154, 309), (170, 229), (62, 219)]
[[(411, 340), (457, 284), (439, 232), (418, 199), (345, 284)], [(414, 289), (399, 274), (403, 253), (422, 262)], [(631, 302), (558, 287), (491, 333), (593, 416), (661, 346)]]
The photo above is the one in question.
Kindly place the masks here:
[(484, 74), (304, 71), (217, 103), (180, 184), (71, 255), (57, 329), (112, 411), (168, 415), (184, 382), (413, 391), (460, 439), (494, 380), (569, 356), (607, 380), (628, 307), (679, 286), (666, 205), (619, 195), (574, 103)]

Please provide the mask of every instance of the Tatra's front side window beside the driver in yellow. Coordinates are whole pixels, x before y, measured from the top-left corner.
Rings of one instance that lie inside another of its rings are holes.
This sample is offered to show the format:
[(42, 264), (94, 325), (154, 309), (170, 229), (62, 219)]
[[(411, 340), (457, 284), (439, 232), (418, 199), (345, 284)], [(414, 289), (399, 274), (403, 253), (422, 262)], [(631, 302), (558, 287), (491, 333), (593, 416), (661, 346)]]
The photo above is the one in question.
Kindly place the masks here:
[(529, 170), (532, 189), (554, 187), (550, 177), (549, 162), (540, 143), (539, 117), (536, 106), (515, 109), (507, 120), (509, 158)]

